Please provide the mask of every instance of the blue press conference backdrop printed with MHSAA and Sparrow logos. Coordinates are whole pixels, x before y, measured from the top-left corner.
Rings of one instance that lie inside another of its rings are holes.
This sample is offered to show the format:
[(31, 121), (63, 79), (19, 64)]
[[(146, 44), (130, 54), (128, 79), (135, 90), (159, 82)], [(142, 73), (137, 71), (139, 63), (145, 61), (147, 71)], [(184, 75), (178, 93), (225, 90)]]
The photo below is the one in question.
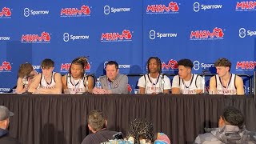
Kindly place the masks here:
[(162, 72), (174, 74), (178, 60), (190, 58), (200, 74), (214, 73), (214, 61), (225, 57), (232, 73), (252, 75), (255, 15), (256, 1), (240, 0), (2, 1), (0, 91), (16, 85), (21, 63), (40, 72), (44, 58), (65, 74), (74, 58), (90, 56), (87, 73), (98, 77), (110, 60), (122, 74), (143, 74), (146, 60), (157, 56)]

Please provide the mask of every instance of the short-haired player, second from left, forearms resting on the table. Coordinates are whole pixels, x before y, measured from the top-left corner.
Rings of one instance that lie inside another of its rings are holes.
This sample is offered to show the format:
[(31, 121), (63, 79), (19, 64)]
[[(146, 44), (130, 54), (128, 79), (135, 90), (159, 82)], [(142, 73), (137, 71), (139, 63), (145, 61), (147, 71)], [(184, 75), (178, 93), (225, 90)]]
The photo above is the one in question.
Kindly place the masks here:
[(29, 92), (33, 94), (62, 94), (62, 75), (54, 72), (54, 61), (44, 59), (41, 64), (42, 73), (34, 78)]

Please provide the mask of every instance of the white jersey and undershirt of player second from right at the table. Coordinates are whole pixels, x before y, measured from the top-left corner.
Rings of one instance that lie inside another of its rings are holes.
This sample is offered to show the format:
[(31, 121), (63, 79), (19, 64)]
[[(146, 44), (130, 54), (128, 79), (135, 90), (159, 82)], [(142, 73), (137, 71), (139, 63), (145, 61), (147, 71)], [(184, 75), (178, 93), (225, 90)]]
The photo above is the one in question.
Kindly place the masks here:
[(175, 75), (173, 78), (173, 88), (179, 88), (181, 94), (197, 94), (197, 90), (203, 89), (203, 79), (198, 74), (192, 74), (190, 81), (185, 81)]

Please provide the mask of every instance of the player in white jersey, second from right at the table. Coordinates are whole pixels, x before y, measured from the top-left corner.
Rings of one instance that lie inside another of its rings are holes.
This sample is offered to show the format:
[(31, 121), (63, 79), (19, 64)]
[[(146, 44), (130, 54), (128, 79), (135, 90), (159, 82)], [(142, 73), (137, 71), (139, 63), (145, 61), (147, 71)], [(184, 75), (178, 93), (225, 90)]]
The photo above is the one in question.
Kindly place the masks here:
[(203, 79), (198, 74), (192, 74), (194, 64), (190, 59), (178, 61), (178, 75), (173, 78), (172, 94), (201, 94)]

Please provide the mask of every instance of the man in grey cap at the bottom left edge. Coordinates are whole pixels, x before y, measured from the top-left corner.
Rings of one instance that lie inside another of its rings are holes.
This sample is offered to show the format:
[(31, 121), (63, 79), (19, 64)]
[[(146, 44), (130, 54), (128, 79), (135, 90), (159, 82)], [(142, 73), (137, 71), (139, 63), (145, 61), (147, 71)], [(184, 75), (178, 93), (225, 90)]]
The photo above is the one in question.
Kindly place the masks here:
[(18, 140), (11, 138), (6, 130), (10, 123), (10, 116), (14, 113), (10, 112), (6, 106), (0, 106), (0, 144), (18, 144)]

